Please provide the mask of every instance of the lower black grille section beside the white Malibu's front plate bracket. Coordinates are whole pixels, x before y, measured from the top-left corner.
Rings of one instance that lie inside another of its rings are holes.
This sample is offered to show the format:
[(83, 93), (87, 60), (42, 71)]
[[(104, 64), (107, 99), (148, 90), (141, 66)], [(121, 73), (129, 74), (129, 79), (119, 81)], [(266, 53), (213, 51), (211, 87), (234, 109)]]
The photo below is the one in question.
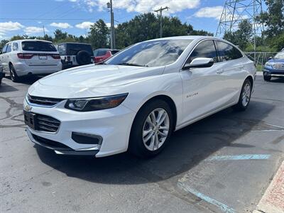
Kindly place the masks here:
[(38, 131), (57, 132), (60, 126), (58, 119), (43, 114), (36, 114), (35, 119)]

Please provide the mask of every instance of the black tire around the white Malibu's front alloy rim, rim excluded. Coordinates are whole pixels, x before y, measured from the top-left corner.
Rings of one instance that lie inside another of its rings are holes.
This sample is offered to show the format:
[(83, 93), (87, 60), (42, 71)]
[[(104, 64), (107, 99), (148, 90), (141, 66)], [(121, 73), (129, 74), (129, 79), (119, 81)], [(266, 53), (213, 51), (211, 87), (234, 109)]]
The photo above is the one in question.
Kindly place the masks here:
[[(170, 128), (168, 132), (168, 137), (166, 138), (163, 145), (158, 148), (156, 151), (149, 151), (144, 143), (142, 138), (143, 132), (143, 125), (148, 117), (148, 115), (154, 110), (162, 108), (167, 111), (169, 119), (170, 119)], [(163, 148), (165, 148), (166, 144), (170, 140), (171, 133), (173, 131), (173, 112), (170, 109), (170, 106), (163, 100), (157, 99), (153, 100), (152, 102), (147, 103), (144, 105), (136, 115), (136, 118), (133, 121), (130, 138), (129, 138), (129, 151), (134, 155), (141, 157), (141, 158), (150, 158), (158, 153), (160, 153)]]

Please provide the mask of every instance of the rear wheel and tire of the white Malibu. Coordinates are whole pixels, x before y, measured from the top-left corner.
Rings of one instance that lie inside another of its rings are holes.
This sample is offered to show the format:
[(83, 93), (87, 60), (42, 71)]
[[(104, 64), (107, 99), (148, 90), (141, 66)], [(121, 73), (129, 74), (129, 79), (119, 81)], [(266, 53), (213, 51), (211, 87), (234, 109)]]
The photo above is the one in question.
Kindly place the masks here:
[(246, 79), (244, 81), (243, 87), (241, 87), (241, 94), (239, 97), (239, 102), (236, 104), (233, 109), (236, 111), (245, 111), (249, 106), (249, 102), (251, 101), (251, 81)]

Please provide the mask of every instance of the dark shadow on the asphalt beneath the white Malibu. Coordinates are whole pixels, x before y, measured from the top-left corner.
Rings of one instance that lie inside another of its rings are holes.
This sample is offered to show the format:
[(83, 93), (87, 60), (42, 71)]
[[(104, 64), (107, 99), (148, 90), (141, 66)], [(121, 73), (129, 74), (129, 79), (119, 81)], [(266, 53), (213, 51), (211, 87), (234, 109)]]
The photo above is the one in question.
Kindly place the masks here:
[[(35, 146), (40, 160), (69, 177), (102, 184), (143, 184), (178, 178), (224, 146), (252, 148), (236, 143), (253, 129), (267, 129), (262, 121), (273, 105), (251, 101), (243, 112), (225, 109), (173, 133), (170, 143), (155, 158), (139, 159), (128, 153), (105, 158), (56, 155)], [(115, 143), (115, 141), (114, 141)]]

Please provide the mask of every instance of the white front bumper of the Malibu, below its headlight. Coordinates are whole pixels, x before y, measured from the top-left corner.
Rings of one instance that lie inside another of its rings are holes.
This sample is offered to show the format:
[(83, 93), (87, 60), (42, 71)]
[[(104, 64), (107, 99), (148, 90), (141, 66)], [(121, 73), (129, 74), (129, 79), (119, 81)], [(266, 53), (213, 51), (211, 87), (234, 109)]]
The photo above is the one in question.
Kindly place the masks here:
[[(104, 157), (127, 151), (131, 125), (136, 115), (134, 111), (122, 104), (119, 107), (101, 111), (72, 111), (64, 108), (65, 102), (60, 102), (55, 107), (39, 107), (28, 103), (25, 99), (24, 109), (29, 105), (33, 114), (51, 116), (60, 121), (59, 129), (54, 133), (37, 131), (28, 127), (26, 131), (33, 143), (49, 148), (57, 154), (65, 155)], [(102, 138), (102, 141), (99, 144), (82, 141), (77, 143), (72, 138), (72, 133), (97, 136)]]

